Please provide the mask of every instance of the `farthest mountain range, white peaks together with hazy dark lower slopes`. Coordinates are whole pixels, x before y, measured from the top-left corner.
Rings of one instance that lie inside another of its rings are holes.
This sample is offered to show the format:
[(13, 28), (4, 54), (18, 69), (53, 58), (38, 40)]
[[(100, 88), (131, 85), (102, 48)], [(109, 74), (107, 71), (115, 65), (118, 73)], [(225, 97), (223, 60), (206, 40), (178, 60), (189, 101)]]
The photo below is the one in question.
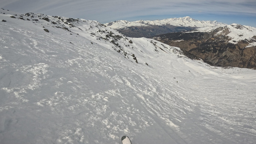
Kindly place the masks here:
[(206, 26), (219, 27), (226, 24), (217, 21), (199, 21), (191, 17), (170, 18), (154, 21), (113, 21), (105, 25), (118, 30), (128, 37), (151, 37), (169, 32), (180, 32)]

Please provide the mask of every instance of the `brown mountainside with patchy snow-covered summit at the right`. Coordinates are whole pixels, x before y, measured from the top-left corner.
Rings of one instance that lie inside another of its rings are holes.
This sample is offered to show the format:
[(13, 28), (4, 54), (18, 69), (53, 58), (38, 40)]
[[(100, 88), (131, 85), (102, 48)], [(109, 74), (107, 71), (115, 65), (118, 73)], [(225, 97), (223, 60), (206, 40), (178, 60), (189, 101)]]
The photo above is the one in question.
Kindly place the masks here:
[(152, 37), (212, 65), (256, 69), (256, 28), (231, 24)]

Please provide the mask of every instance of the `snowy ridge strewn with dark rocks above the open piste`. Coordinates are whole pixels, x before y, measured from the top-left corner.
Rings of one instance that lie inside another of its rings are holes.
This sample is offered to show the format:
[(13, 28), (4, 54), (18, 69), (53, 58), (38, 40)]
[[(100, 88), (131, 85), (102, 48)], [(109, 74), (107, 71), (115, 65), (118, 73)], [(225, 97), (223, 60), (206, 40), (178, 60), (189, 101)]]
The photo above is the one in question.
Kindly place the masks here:
[[(85, 19), (73, 19), (60, 16), (48, 16), (41, 13), (26, 13), (19, 14), (5, 9), (0, 9), (1, 18), (3, 23), (16, 24), (27, 27), (28, 29), (37, 30), (39, 33), (47, 32), (53, 35), (73, 35), (73, 37), (81, 37), (82, 39), (89, 39), (91, 45), (99, 45), (106, 47), (112, 51), (120, 53), (123, 57), (131, 60), (132, 62), (140, 62), (137, 55), (146, 53), (147, 51), (157, 53), (172, 53), (183, 55), (179, 48), (168, 46), (159, 43), (153, 39), (133, 39), (129, 38), (118, 31), (105, 26), (97, 21)], [(28, 26), (29, 25), (29, 26)], [(136, 42), (144, 41), (154, 49), (141, 49), (141, 46)], [(70, 41), (70, 44), (75, 42)], [(183, 55), (184, 56), (184, 55)]]

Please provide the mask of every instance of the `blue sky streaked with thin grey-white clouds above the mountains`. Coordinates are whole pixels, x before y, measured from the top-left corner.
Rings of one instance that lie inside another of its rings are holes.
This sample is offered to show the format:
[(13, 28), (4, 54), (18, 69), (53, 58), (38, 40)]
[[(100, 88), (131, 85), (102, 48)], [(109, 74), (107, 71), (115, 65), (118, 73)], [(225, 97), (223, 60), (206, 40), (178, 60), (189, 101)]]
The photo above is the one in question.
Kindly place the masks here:
[(190, 16), (256, 27), (256, 0), (1, 0), (1, 8), (100, 23)]

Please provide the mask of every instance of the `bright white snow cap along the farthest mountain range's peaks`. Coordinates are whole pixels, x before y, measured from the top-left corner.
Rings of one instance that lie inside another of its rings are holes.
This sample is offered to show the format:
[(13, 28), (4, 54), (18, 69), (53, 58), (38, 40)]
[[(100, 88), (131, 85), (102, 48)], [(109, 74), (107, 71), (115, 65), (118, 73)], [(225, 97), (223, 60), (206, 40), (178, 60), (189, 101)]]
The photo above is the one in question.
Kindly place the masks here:
[(173, 26), (179, 26), (179, 27), (206, 27), (206, 26), (224, 26), (226, 24), (220, 23), (217, 21), (199, 21), (195, 20), (193, 18), (190, 18), (188, 16), (183, 18), (169, 18), (169, 19), (163, 19), (163, 20), (154, 20), (154, 21), (145, 21), (145, 20), (139, 20), (139, 21), (133, 21), (129, 22), (126, 20), (119, 20), (119, 21), (113, 21), (106, 23), (105, 25), (113, 28), (113, 29), (122, 29), (127, 28), (131, 26), (151, 26), (151, 25), (173, 25)]

